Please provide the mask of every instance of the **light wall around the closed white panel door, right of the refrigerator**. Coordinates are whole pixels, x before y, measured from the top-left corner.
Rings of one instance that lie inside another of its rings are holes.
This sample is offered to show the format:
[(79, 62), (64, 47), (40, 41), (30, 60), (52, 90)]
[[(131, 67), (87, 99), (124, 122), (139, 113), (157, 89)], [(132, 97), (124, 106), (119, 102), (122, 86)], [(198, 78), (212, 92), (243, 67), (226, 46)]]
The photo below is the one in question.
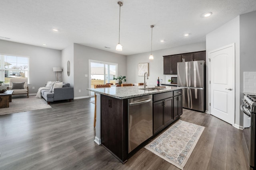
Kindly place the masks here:
[[(218, 29), (206, 35), (206, 59), (208, 53), (214, 49), (235, 43), (235, 124), (242, 125), (242, 115), (240, 114), (240, 17), (236, 17)], [(208, 68), (208, 62), (206, 63)], [(208, 69), (206, 71), (208, 75)], [(206, 96), (208, 98), (208, 96)], [(210, 99), (208, 98), (210, 101)], [(209, 107), (209, 106), (208, 106)]]

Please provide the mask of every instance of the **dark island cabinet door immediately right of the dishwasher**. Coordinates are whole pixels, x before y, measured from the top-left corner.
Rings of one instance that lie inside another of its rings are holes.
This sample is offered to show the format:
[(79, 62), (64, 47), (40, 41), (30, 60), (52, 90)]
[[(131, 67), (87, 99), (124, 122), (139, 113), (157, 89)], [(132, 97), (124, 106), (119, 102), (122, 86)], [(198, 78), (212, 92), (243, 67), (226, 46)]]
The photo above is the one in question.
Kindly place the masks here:
[(153, 134), (164, 128), (164, 102), (153, 103)]

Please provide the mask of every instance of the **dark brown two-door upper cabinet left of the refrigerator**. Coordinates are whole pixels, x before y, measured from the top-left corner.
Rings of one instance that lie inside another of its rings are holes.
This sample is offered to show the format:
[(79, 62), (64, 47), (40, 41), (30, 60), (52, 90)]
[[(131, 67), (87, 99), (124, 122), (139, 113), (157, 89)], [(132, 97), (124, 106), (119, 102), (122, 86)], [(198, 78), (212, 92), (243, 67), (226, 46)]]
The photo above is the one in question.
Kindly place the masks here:
[(177, 74), (177, 63), (181, 61), (181, 55), (164, 56), (164, 74)]

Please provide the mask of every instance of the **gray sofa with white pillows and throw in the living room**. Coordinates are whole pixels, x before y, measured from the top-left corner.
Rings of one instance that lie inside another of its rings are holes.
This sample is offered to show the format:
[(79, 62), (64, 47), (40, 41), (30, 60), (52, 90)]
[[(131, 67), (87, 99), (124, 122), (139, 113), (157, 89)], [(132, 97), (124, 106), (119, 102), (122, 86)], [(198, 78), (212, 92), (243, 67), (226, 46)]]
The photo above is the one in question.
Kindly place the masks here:
[(73, 87), (62, 87), (54, 88), (54, 94), (50, 92), (50, 89), (41, 90), (41, 96), (50, 104), (57, 100), (69, 100), (74, 99), (74, 88)]

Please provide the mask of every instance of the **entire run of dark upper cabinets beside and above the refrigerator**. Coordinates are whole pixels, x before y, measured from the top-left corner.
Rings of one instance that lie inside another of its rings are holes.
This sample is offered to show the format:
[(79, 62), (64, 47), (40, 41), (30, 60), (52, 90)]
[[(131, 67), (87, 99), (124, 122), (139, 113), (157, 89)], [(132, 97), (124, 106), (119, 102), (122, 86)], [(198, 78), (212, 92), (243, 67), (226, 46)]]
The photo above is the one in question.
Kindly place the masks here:
[(206, 51), (183, 53), (176, 55), (166, 55), (164, 57), (164, 74), (177, 74), (177, 63), (185, 61), (206, 61)]

